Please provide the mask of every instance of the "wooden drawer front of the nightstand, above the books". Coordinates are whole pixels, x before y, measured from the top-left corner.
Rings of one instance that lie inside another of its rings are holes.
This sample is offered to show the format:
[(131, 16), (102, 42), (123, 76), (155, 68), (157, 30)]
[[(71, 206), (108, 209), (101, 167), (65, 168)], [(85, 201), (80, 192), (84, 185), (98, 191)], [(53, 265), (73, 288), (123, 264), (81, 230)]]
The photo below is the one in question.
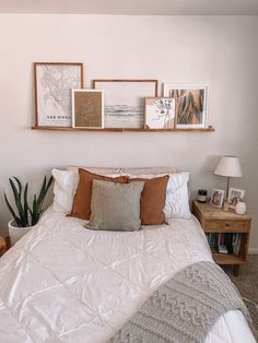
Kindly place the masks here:
[(225, 221), (225, 220), (206, 220), (203, 223), (204, 230), (208, 232), (224, 232), (224, 233), (234, 233), (249, 232), (249, 222), (248, 221)]

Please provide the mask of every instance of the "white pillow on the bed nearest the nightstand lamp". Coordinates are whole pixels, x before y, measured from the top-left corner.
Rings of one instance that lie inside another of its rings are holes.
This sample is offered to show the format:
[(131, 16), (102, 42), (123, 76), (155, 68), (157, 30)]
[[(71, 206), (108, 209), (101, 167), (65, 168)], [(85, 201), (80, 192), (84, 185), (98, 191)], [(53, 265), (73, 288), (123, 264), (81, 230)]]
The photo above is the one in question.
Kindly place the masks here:
[[(153, 178), (162, 175), (128, 175), (129, 178)], [(168, 174), (169, 179), (166, 187), (166, 202), (164, 213), (166, 218), (190, 218), (189, 197), (187, 182), (189, 173)]]

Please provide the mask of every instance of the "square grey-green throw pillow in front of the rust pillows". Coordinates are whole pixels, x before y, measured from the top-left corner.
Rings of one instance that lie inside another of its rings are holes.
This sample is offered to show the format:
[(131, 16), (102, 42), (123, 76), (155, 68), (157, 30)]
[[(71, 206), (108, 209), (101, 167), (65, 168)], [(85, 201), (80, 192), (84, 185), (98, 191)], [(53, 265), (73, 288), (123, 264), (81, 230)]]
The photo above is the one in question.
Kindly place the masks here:
[(143, 186), (144, 181), (115, 184), (93, 180), (91, 217), (85, 227), (109, 230), (139, 229)]

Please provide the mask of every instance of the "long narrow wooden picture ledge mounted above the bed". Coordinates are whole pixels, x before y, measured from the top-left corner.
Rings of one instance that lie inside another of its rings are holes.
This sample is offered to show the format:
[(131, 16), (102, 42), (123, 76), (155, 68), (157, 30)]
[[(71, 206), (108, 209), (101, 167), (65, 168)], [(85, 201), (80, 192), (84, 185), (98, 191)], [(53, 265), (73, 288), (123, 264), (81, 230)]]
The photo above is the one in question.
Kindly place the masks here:
[(66, 128), (66, 127), (32, 127), (33, 130), (51, 130), (51, 131), (92, 131), (92, 132), (213, 132), (215, 129), (211, 126), (199, 129), (86, 129), (86, 128)]

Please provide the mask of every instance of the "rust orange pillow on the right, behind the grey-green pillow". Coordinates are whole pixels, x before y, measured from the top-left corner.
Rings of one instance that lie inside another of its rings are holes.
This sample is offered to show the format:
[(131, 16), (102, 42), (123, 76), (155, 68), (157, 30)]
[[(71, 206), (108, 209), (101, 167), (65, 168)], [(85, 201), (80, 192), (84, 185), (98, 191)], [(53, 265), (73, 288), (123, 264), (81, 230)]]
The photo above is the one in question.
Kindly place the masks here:
[(166, 186), (169, 176), (161, 176), (152, 179), (136, 178), (133, 181), (145, 181), (140, 200), (141, 224), (160, 225), (165, 223), (165, 214), (163, 212), (166, 201)]

